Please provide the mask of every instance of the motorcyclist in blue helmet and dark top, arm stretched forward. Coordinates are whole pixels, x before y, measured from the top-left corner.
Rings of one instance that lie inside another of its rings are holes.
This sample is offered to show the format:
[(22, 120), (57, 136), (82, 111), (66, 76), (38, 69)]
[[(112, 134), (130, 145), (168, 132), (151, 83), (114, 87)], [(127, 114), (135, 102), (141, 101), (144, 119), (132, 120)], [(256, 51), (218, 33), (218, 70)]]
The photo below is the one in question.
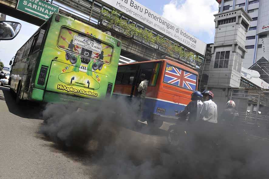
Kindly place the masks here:
[(191, 102), (185, 107), (184, 111), (178, 113), (178, 116), (186, 117), (189, 113), (189, 122), (194, 122), (199, 120), (200, 118), (200, 111), (203, 105), (201, 101), (203, 95), (200, 91), (194, 91), (191, 96)]

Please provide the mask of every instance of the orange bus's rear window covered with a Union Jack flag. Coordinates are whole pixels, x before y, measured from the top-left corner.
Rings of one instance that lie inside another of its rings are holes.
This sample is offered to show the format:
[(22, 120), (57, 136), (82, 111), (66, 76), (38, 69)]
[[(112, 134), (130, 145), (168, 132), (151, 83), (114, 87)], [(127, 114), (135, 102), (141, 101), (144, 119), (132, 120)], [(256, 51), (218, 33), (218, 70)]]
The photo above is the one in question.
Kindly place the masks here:
[(189, 71), (184, 71), (179, 67), (166, 64), (165, 75), (163, 78), (165, 83), (195, 91), (196, 80), (196, 74), (193, 74)]

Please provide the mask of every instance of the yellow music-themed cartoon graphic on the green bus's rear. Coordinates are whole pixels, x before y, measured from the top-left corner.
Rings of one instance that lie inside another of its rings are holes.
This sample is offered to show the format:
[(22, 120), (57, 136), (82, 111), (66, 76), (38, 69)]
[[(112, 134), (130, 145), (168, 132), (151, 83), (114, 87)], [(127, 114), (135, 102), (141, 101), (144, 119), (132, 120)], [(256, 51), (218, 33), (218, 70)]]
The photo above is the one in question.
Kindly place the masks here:
[[(96, 73), (110, 64), (113, 48), (94, 38), (91, 33), (87, 34), (65, 27), (61, 29), (58, 46), (65, 50), (65, 60), (70, 62), (70, 66), (63, 69), (58, 78), (67, 85), (95, 86), (92, 89), (97, 89), (100, 88), (100, 77), (97, 78)], [(90, 79), (86, 79), (85, 73)]]

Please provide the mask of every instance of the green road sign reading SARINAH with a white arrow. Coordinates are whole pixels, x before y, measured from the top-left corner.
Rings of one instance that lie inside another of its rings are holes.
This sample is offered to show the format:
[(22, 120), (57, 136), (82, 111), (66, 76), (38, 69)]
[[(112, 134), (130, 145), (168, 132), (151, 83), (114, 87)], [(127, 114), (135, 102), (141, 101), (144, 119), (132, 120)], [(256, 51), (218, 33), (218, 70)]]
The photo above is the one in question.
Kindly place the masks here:
[(19, 0), (16, 9), (44, 20), (59, 12), (58, 6), (43, 0)]

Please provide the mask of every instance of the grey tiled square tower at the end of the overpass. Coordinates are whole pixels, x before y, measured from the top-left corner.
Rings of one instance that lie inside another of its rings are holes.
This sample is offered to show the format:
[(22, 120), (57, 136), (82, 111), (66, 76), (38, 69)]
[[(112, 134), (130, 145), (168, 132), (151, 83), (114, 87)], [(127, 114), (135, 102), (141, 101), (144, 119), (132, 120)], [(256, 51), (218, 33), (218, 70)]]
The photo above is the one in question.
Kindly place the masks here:
[[(246, 34), (252, 18), (243, 8), (214, 16), (216, 32), (214, 44), (210, 45), (211, 60), (206, 58), (202, 77), (208, 76), (204, 89), (213, 91), (218, 110), (222, 111), (229, 99), (229, 89), (240, 87), (241, 69), (247, 51)], [(210, 54), (207, 53), (207, 56), (210, 57)]]

